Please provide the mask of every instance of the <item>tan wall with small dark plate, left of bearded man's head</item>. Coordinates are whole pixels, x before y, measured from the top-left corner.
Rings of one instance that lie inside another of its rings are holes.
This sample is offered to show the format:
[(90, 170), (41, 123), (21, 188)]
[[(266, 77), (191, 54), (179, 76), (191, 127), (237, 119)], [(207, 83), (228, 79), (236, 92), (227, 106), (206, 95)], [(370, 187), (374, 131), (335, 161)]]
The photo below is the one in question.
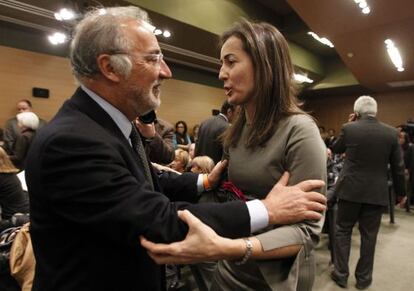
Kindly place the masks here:
[[(34, 112), (49, 120), (76, 88), (68, 59), (0, 46), (0, 126), (16, 114), (16, 103), (29, 99)], [(48, 99), (33, 98), (32, 88), (50, 90)]]

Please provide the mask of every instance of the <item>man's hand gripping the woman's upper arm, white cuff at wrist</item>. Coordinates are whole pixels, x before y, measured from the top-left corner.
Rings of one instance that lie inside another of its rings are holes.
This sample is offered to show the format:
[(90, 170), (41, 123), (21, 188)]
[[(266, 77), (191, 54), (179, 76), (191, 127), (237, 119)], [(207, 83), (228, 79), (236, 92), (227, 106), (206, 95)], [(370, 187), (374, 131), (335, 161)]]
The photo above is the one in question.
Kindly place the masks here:
[(292, 224), (303, 220), (319, 220), (326, 210), (326, 198), (318, 192), (325, 182), (306, 180), (286, 186), (289, 173), (285, 172), (267, 197), (262, 201), (269, 212), (269, 224)]

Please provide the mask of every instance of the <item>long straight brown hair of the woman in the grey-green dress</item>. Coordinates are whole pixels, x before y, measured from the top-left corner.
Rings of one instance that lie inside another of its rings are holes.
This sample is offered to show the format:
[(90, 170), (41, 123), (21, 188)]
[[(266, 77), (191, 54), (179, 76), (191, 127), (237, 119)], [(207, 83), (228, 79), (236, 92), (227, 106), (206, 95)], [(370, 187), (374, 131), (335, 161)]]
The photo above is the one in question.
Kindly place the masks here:
[[(243, 50), (250, 56), (254, 68), (253, 100), (256, 111), (247, 132), (246, 146), (264, 146), (272, 137), (279, 120), (288, 115), (304, 113), (292, 82), (293, 66), (288, 44), (274, 26), (245, 19), (224, 32), (221, 46), (230, 38), (240, 39)], [(246, 123), (245, 108), (224, 137), (224, 146), (235, 147)]]

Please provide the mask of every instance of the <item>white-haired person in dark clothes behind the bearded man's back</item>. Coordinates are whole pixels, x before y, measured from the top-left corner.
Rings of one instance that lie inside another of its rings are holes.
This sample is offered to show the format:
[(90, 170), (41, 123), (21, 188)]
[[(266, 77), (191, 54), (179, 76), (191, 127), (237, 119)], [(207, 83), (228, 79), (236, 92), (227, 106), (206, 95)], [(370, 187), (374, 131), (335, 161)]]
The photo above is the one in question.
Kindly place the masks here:
[(20, 135), (17, 137), (10, 160), (17, 168), (24, 169), (27, 152), (39, 127), (39, 117), (33, 112), (22, 112), (16, 115), (16, 119)]

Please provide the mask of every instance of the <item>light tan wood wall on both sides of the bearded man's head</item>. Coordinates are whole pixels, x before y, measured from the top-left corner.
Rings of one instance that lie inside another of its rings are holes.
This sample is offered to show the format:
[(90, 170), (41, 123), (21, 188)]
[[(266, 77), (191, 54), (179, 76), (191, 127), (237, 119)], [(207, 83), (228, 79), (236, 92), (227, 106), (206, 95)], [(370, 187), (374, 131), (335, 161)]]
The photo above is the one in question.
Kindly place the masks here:
[[(0, 64), (0, 127), (16, 114), (20, 99), (29, 99), (34, 112), (49, 120), (77, 87), (66, 58), (0, 46)], [(49, 89), (49, 98), (33, 98), (32, 87)], [(221, 89), (167, 80), (159, 116), (171, 123), (185, 120), (192, 127), (210, 116), (211, 109), (219, 109), (223, 100)]]

